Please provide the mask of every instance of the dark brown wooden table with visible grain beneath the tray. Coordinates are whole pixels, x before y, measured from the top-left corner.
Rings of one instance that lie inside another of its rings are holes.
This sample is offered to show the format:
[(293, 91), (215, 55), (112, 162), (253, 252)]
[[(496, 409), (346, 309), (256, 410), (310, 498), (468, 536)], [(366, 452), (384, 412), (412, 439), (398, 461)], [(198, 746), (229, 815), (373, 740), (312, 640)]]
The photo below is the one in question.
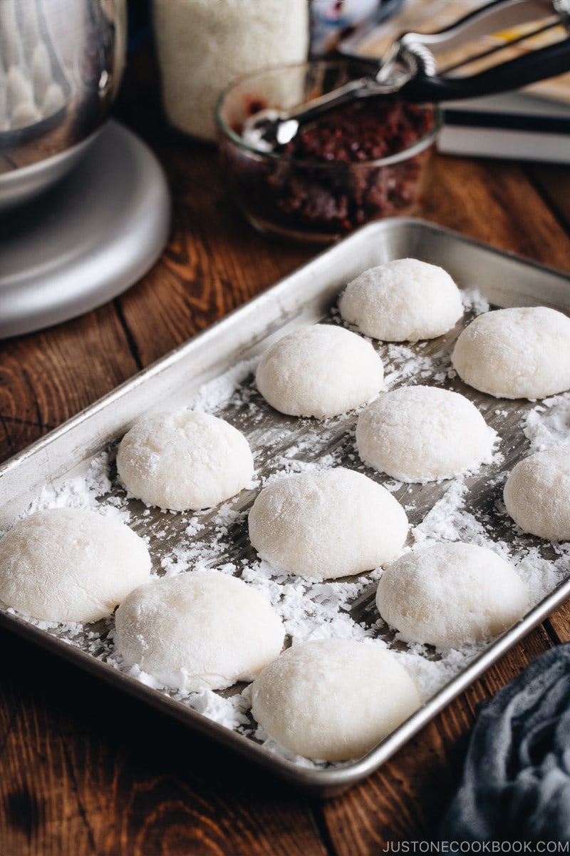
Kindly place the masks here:
[[(226, 200), (214, 147), (168, 130), (132, 70), (117, 114), (167, 171), (170, 240), (119, 299), (0, 342), (1, 460), (317, 252), (250, 229)], [(570, 271), (569, 168), (440, 157), (423, 216)], [(371, 856), (427, 841), (476, 705), (570, 639), (569, 619), (559, 609), (367, 781), (326, 801), (0, 633), (0, 854)]]

